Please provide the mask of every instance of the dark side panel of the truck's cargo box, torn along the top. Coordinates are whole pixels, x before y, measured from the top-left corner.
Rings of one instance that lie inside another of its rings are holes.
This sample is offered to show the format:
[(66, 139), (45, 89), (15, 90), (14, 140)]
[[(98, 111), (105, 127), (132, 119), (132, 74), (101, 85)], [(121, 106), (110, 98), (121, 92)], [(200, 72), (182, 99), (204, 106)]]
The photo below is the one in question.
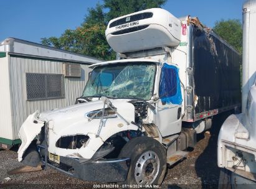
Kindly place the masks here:
[(213, 31), (194, 31), (194, 114), (240, 108), (240, 55)]

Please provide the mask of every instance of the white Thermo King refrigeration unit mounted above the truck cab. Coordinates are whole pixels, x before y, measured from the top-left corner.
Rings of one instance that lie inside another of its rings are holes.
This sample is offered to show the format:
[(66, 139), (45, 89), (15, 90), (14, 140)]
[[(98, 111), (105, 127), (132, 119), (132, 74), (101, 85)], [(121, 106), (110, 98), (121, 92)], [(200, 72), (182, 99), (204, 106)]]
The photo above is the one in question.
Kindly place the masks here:
[(111, 20), (105, 35), (118, 53), (174, 47), (181, 39), (181, 21), (164, 9), (147, 9)]

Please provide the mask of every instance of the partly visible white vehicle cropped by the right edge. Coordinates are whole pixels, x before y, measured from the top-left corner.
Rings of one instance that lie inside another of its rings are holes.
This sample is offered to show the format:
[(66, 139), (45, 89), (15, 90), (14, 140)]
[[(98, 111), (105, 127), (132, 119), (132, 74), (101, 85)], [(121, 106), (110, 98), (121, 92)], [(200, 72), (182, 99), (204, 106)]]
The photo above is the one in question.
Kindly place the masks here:
[(256, 186), (256, 1), (243, 6), (242, 114), (229, 116), (218, 139), (220, 187)]

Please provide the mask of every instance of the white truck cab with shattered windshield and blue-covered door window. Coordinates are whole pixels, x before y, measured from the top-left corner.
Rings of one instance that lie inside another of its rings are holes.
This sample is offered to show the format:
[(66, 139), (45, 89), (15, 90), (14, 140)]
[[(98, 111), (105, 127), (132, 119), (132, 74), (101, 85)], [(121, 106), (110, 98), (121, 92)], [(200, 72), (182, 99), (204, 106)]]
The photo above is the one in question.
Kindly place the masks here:
[(158, 124), (161, 126), (161, 136), (181, 131), (183, 89), (177, 65), (135, 58), (98, 63), (92, 67), (79, 102), (83, 102), (82, 99), (95, 101), (102, 96), (113, 101), (130, 101), (132, 104), (134, 101), (136, 109), (133, 122), (136, 124)]

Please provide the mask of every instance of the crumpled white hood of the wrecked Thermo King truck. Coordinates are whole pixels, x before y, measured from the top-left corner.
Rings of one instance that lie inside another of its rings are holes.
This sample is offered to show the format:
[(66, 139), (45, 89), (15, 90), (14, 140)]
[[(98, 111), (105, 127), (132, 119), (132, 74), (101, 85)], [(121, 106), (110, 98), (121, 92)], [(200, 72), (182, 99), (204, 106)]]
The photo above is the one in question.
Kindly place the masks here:
[[(89, 121), (85, 116), (90, 111), (102, 109), (103, 100), (53, 109), (40, 113), (39, 116), (37, 116), (37, 112), (31, 114), (21, 127), (22, 145), (19, 149), (19, 161), (22, 160), (25, 150), (44, 126), (44, 121), (48, 123), (47, 137), (49, 143), (47, 150), (52, 154), (82, 159), (91, 159), (100, 146), (113, 134), (127, 130), (138, 130), (138, 126), (132, 123), (135, 119), (135, 106), (128, 103), (129, 99), (109, 100), (119, 115), (116, 115), (115, 118), (103, 119), (103, 122), (100, 122), (100, 119)], [(60, 137), (76, 135), (87, 135), (89, 139), (86, 145), (76, 149), (56, 146)]]

